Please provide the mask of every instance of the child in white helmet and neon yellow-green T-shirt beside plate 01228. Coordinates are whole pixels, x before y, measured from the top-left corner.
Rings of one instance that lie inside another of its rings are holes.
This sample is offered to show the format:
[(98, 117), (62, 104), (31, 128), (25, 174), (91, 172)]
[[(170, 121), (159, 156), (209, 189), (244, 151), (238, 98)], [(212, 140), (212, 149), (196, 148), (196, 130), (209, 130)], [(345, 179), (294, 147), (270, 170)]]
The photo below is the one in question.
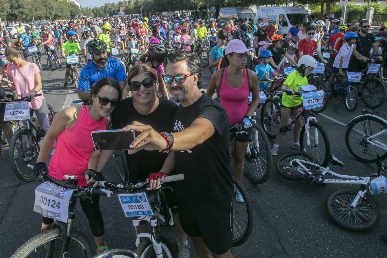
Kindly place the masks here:
[[(281, 128), (285, 127), (288, 123), (289, 116), (293, 117), (303, 108), (300, 106), (302, 103), (302, 97), (291, 96), (295, 92), (298, 92), (298, 88), (301, 86), (308, 85), (308, 78), (312, 73), (312, 70), (317, 68), (317, 61), (313, 56), (303, 55), (298, 60), (298, 68), (296, 71), (289, 73), (288, 77), (284, 81), (284, 84), (281, 87), (282, 102), (281, 102), (281, 120), (277, 129), (276, 141), (271, 150), (271, 155), (276, 156), (278, 152), (279, 142), (282, 137)], [(302, 117), (299, 116), (294, 123), (293, 135), (294, 140), (292, 148), (301, 150), (300, 148), (300, 132), (301, 132), (301, 123)]]

